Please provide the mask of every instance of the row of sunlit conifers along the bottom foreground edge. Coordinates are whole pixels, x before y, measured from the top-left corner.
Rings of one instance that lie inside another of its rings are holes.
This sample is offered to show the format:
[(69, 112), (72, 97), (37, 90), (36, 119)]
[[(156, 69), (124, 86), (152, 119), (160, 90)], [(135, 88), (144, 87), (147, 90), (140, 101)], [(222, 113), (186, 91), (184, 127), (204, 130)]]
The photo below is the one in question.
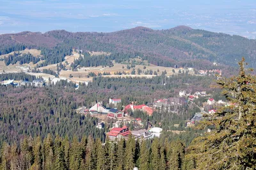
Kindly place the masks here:
[(193, 162), (184, 159), (185, 146), (180, 141), (158, 138), (115, 142), (74, 137), (72, 141), (50, 134), (42, 140), (25, 137), (20, 144), (4, 143), (1, 169), (189, 169)]

